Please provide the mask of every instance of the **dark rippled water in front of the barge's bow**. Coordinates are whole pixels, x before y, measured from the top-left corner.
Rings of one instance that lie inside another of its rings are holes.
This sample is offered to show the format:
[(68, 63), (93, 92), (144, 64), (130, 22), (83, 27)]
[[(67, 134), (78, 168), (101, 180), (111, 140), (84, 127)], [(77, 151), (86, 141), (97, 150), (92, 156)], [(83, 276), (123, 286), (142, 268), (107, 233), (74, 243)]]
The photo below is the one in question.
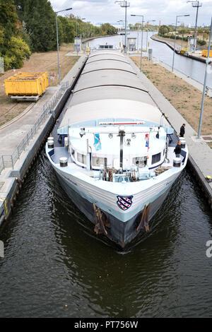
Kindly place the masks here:
[(212, 316), (212, 213), (184, 170), (151, 232), (102, 241), (42, 151), (1, 227), (1, 317)]

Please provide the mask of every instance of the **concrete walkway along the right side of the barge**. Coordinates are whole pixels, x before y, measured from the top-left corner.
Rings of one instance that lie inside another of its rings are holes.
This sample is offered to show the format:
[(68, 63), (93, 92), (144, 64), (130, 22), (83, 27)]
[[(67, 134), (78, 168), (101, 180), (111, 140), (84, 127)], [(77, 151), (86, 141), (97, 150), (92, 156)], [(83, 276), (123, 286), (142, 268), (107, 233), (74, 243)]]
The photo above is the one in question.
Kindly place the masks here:
[[(199, 170), (204, 178), (208, 175), (212, 177), (212, 149), (203, 138), (197, 139), (197, 133), (194, 131), (192, 126), (190, 126), (190, 124), (182, 117), (181, 114), (179, 114), (179, 112), (177, 112), (177, 109), (170, 104), (163, 94), (155, 88), (155, 85), (153, 85), (153, 83), (151, 83), (151, 81), (149, 81), (149, 79), (139, 71), (139, 68), (136, 64), (134, 64), (134, 61), (132, 61), (129, 57), (128, 59), (131, 66), (133, 66), (133, 68), (137, 71), (139, 77), (141, 78), (142, 84), (146, 86), (155, 104), (158, 105), (161, 112), (167, 114), (168, 120), (170, 121), (170, 124), (172, 124), (175, 131), (179, 134), (179, 129), (182, 124), (186, 124), (184, 137), (189, 148), (189, 155), (191, 155), (196, 166), (199, 167)], [(211, 188), (212, 198), (212, 182), (209, 183), (208, 186)]]

